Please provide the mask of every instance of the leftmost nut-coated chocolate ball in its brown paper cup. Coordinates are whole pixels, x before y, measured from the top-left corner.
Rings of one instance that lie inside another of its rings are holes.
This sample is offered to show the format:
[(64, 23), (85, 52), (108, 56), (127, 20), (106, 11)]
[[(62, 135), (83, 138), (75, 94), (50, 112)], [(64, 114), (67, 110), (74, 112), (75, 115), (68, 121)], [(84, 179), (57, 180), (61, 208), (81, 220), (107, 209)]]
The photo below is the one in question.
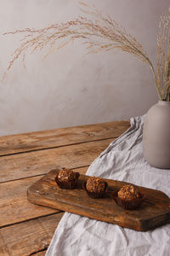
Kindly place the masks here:
[(69, 168), (63, 168), (55, 177), (55, 181), (60, 189), (75, 189), (79, 176), (79, 172), (73, 172)]

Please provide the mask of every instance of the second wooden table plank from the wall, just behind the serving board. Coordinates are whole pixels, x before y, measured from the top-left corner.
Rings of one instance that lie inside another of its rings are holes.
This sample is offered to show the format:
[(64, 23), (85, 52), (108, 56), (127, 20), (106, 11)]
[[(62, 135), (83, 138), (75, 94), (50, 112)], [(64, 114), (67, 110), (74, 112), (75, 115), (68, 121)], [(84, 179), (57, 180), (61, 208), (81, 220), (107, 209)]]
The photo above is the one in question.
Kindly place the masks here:
[(89, 166), (112, 139), (0, 157), (0, 183), (46, 174), (57, 166)]

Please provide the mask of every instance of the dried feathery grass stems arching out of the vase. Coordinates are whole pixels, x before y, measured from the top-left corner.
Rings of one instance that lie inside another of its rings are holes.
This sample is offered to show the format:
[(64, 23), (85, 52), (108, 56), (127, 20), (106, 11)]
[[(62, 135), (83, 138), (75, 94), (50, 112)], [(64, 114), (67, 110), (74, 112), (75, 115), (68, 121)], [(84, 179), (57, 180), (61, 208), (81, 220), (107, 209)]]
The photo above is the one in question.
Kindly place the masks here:
[(167, 15), (161, 17), (157, 36), (157, 72), (155, 72), (142, 45), (128, 34), (122, 26), (119, 26), (109, 15), (103, 15), (101, 11), (95, 9), (94, 5), (89, 6), (84, 2), (79, 3), (82, 11), (90, 15), (91, 19), (80, 16), (75, 20), (53, 24), (42, 29), (26, 28), (15, 32), (6, 32), (5, 34), (24, 34), (23, 43), (20, 44), (18, 49), (15, 49), (8, 70), (21, 55), (25, 59), (26, 52), (29, 49), (33, 53), (36, 50), (48, 47), (48, 54), (50, 54), (76, 39), (81, 39), (82, 44), (88, 49), (88, 53), (122, 49), (122, 51), (148, 63), (156, 82), (159, 99), (170, 101), (170, 17)]

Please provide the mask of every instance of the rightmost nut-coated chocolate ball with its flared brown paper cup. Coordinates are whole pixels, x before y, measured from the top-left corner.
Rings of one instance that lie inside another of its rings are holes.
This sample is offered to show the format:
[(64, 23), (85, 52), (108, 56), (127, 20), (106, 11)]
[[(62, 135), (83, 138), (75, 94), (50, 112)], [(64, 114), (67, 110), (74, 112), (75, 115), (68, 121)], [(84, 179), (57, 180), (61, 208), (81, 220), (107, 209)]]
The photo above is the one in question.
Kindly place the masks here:
[(141, 202), (144, 201), (144, 195), (138, 189), (135, 189), (132, 184), (127, 184), (119, 191), (114, 191), (111, 196), (118, 206), (127, 210), (138, 208)]

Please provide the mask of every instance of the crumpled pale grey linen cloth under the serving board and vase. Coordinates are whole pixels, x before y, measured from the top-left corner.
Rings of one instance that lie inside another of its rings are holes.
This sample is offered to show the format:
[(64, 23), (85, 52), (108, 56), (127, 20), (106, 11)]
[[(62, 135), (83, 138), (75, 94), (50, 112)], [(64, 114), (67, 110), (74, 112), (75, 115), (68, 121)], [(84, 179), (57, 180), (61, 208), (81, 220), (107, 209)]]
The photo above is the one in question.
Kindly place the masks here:
[[(151, 167), (142, 150), (144, 117), (94, 160), (87, 175), (159, 189), (170, 196), (170, 170)], [(104, 209), (105, 211), (105, 209)], [(65, 212), (46, 256), (170, 256), (170, 224), (139, 232)]]

